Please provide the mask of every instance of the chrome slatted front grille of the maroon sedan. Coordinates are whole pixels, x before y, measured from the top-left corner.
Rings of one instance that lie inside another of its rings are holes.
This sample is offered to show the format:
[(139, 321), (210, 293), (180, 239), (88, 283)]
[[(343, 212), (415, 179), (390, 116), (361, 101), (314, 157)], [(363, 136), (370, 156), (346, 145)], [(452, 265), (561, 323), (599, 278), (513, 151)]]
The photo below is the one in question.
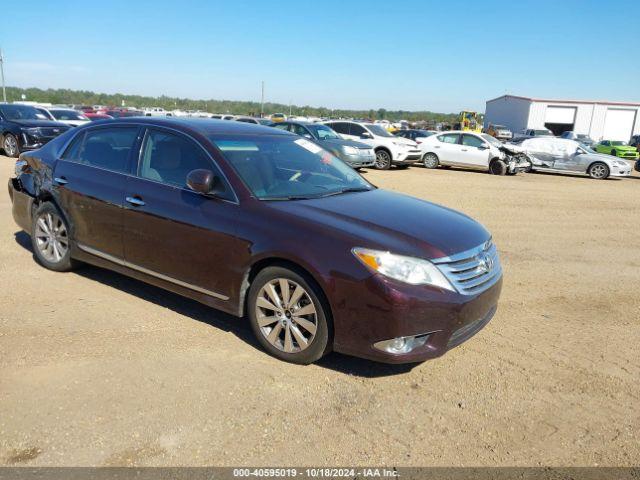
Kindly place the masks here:
[(498, 249), (491, 240), (450, 257), (433, 259), (432, 262), (463, 295), (484, 292), (502, 276)]

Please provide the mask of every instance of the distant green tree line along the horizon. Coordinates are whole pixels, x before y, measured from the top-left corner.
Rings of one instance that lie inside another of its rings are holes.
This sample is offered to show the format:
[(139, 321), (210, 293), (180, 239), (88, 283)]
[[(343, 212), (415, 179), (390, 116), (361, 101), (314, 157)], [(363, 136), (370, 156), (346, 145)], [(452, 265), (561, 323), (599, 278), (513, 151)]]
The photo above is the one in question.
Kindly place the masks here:
[[(51, 104), (68, 105), (106, 105), (127, 107), (162, 107), (166, 110), (202, 110), (210, 113), (231, 113), (236, 115), (259, 115), (260, 103), (237, 100), (193, 100), (190, 98), (149, 97), (142, 95), (125, 95), (122, 93), (107, 94), (96, 93), (88, 90), (40, 89), (7, 87), (7, 101), (24, 100)], [(344, 110), (327, 107), (312, 107), (309, 105), (285, 105), (282, 103), (265, 102), (265, 114), (284, 113), (292, 115), (332, 117), (332, 118), (367, 118), (371, 120), (408, 120), (410, 122), (454, 122), (457, 115), (454, 113), (436, 113), (429, 111), (404, 111), (386, 110), (384, 108), (369, 110)]]

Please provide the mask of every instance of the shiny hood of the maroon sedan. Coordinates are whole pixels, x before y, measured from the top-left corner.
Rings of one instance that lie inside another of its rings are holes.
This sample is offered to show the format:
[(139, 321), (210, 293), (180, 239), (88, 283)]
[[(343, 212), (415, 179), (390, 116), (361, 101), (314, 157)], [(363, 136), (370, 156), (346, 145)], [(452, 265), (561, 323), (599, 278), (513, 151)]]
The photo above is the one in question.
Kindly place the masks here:
[(475, 220), (446, 207), (387, 190), (269, 202), (288, 215), (353, 237), (354, 247), (438, 258), (477, 247), (490, 235)]

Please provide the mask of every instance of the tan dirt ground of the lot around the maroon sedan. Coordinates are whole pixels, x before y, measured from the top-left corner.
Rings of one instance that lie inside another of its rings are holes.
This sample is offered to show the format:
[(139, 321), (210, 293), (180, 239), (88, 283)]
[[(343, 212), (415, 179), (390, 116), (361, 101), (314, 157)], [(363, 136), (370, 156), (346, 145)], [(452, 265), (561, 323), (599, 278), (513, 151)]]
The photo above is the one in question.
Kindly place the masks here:
[(640, 464), (638, 174), (365, 175), (493, 233), (498, 313), (444, 357), (280, 362), (243, 320), (39, 267), (0, 193), (0, 465)]

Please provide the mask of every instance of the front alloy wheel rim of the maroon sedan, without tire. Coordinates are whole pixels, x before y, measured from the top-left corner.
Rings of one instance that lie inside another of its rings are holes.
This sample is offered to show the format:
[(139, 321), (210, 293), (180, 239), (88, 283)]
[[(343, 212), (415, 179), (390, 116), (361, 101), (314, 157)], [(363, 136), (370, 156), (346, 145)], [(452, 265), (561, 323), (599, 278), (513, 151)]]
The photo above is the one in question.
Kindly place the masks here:
[(260, 332), (278, 350), (305, 350), (316, 335), (318, 317), (309, 293), (298, 283), (276, 278), (266, 283), (256, 299)]

